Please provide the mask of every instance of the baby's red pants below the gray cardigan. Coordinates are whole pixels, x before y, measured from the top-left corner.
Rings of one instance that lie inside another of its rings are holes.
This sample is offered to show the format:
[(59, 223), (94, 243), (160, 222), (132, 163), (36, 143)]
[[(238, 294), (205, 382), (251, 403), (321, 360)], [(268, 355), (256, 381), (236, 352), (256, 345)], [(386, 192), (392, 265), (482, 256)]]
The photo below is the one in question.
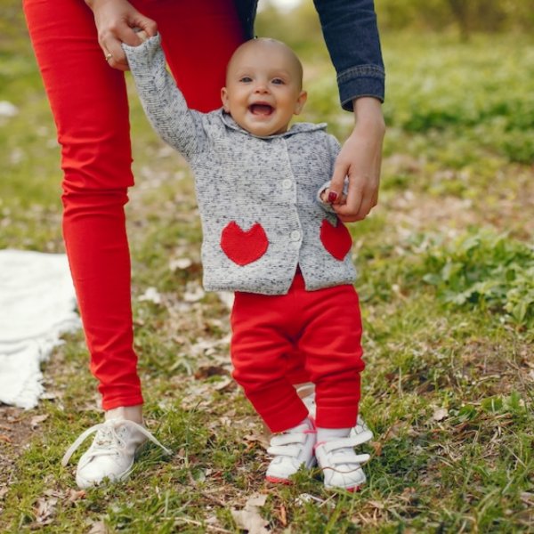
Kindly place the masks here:
[(272, 432), (308, 415), (287, 377), (303, 354), (316, 387), (317, 425), (349, 428), (360, 401), (361, 319), (352, 286), (306, 291), (297, 273), (287, 295), (236, 293), (231, 314), (233, 376)]

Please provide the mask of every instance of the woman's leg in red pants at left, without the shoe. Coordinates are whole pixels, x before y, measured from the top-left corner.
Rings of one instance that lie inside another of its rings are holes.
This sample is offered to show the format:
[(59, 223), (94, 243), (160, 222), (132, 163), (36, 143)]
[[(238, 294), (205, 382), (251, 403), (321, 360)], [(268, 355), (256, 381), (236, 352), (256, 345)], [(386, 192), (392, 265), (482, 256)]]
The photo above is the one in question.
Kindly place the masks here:
[(142, 403), (124, 205), (133, 185), (124, 76), (79, 0), (25, 0), (61, 143), (63, 235), (104, 409)]

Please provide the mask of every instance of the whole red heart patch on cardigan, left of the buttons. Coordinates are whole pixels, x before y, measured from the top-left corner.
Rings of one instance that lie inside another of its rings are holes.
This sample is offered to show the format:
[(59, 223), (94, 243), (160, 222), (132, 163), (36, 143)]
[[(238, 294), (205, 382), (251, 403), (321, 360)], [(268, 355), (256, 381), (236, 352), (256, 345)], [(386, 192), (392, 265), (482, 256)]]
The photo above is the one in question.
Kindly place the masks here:
[(221, 248), (233, 263), (247, 265), (260, 259), (269, 247), (267, 234), (260, 223), (243, 231), (235, 221), (228, 223), (221, 232)]

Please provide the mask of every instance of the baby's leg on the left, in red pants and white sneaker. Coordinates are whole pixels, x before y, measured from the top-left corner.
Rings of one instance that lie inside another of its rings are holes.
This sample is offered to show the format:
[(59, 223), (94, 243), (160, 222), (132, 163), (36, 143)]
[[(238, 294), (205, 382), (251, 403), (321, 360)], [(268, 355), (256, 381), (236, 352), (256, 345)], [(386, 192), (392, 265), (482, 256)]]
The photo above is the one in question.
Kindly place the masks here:
[(231, 316), (233, 376), (271, 429), (273, 457), (266, 479), (288, 482), (315, 458), (315, 427), (308, 409), (287, 380), (287, 353), (299, 327), (291, 295), (237, 293)]

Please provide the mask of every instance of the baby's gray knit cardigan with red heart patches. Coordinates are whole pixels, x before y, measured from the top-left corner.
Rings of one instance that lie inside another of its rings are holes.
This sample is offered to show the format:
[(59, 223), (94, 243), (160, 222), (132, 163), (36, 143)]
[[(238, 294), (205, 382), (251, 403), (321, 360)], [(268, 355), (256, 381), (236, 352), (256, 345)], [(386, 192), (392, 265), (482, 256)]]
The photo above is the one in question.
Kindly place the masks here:
[(195, 175), (206, 290), (285, 295), (297, 266), (307, 290), (352, 283), (351, 236), (318, 197), (339, 152), (326, 125), (256, 137), (223, 109), (188, 109), (159, 36), (123, 46), (151, 124)]

